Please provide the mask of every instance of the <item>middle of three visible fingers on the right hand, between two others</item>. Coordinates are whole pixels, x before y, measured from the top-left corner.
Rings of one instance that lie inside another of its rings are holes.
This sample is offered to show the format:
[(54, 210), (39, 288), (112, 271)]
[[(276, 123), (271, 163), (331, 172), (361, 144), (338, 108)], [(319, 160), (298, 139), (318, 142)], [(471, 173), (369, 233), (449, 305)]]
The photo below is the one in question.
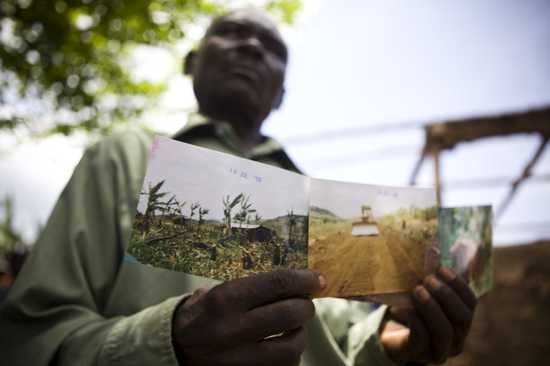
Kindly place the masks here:
[[(457, 277), (454, 281), (459, 282), (460, 279)], [(425, 284), (432, 296), (439, 302), (439, 306), (452, 325), (454, 333), (452, 347), (454, 349), (464, 341), (470, 332), (474, 312), (470, 306), (465, 304), (463, 298), (454, 288), (437, 277), (433, 275), (426, 277)]]

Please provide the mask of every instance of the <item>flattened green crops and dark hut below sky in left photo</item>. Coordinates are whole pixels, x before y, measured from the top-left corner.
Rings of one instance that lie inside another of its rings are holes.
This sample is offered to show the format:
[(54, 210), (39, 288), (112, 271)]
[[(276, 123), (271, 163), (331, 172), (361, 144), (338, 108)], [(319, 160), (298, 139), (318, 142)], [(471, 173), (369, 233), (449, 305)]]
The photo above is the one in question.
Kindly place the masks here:
[(142, 192), (148, 206), (136, 213), (128, 247), (137, 262), (223, 281), (278, 268), (307, 268), (307, 216), (289, 211), (262, 220), (250, 195), (241, 193), (220, 198), (223, 222), (204, 220), (207, 208), (162, 192), (163, 183), (150, 183)]

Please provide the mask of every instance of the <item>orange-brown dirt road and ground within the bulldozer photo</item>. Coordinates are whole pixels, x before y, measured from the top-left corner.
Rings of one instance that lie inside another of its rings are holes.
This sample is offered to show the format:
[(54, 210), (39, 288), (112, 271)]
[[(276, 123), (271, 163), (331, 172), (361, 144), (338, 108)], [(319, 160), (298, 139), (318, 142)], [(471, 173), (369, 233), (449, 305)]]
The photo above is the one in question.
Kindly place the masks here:
[(406, 229), (402, 222), (377, 220), (379, 235), (353, 236), (353, 220), (344, 220), (336, 233), (310, 241), (309, 268), (327, 277), (322, 297), (408, 293), (421, 282), (426, 243), (437, 240), (437, 220), (415, 220)]

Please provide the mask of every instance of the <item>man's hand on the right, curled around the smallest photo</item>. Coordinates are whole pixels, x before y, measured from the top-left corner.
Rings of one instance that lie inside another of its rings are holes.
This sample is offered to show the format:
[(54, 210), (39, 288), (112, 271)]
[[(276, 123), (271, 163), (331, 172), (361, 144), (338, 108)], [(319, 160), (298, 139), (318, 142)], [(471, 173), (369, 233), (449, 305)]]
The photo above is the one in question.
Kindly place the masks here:
[(450, 268), (429, 275), (412, 293), (414, 310), (392, 307), (380, 326), (386, 353), (397, 363), (444, 363), (462, 352), (477, 300)]

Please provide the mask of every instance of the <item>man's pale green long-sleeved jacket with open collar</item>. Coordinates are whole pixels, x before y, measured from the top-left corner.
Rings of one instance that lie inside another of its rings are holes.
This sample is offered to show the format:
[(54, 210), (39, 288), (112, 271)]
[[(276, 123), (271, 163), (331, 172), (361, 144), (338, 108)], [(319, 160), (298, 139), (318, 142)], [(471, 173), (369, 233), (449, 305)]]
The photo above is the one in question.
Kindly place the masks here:
[[(129, 131), (85, 152), (0, 309), (3, 365), (177, 365), (172, 314), (210, 280), (124, 262), (153, 137)], [(201, 115), (175, 139), (298, 171), (273, 139), (247, 153)], [(315, 301), (301, 365), (393, 365), (377, 336), (384, 308)]]

